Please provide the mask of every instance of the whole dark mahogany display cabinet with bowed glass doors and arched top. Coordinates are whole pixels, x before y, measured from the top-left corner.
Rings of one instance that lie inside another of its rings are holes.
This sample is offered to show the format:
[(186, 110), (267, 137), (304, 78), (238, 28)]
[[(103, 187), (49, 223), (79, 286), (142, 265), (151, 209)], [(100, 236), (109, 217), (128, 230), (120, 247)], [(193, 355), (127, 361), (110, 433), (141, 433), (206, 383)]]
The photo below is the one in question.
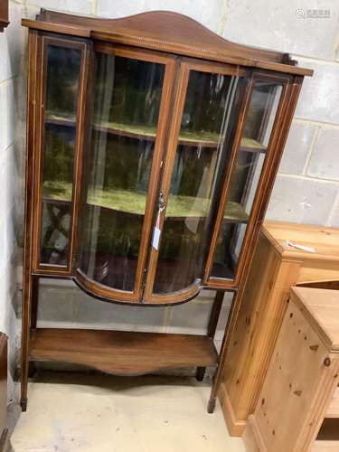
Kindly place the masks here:
[[(22, 407), (29, 363), (218, 370), (225, 291), (247, 272), (305, 75), (180, 14), (42, 10), (29, 27)], [(37, 327), (41, 278), (99, 300), (216, 290), (206, 335)], [(215, 388), (214, 388), (215, 390)], [(212, 391), (210, 410), (215, 391)]]

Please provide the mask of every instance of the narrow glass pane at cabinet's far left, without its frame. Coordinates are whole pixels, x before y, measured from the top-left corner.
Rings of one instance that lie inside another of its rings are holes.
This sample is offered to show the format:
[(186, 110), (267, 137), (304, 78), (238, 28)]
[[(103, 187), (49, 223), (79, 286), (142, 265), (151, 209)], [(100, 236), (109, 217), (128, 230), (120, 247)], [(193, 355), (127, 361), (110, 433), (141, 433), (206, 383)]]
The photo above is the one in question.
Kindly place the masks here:
[(47, 47), (42, 173), (41, 262), (66, 266), (81, 52)]

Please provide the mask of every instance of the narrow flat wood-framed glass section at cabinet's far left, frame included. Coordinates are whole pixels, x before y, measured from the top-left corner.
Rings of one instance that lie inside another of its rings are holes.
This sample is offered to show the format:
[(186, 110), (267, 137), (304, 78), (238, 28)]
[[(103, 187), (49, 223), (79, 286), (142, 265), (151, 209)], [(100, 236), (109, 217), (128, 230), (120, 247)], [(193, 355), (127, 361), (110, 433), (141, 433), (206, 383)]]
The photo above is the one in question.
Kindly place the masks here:
[(34, 134), (33, 266), (71, 274), (90, 42), (40, 35)]

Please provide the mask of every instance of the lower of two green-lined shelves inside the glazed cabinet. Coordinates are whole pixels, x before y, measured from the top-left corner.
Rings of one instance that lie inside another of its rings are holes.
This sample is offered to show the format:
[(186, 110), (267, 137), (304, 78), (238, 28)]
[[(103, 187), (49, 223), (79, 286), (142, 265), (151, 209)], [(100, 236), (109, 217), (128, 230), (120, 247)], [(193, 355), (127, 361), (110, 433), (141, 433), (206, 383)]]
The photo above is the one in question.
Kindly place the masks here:
[[(43, 199), (45, 201), (71, 202), (71, 184), (65, 182), (45, 182)], [(112, 211), (143, 215), (146, 209), (147, 193), (129, 192), (127, 190), (90, 190), (88, 203)], [(208, 200), (193, 196), (171, 195), (166, 209), (166, 216), (171, 219), (199, 218), (206, 216)], [(247, 213), (238, 202), (228, 202), (225, 221), (247, 222)]]

